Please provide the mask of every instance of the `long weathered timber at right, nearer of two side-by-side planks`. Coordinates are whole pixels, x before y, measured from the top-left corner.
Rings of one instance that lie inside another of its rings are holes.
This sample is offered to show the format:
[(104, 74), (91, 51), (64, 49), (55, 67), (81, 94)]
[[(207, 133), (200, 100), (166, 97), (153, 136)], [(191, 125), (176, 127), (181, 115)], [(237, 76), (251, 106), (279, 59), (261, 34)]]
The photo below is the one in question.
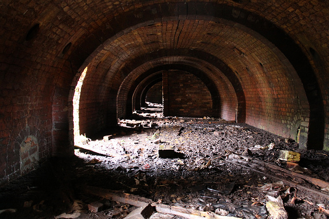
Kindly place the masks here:
[(250, 162), (238, 160), (238, 159), (235, 159), (235, 158), (232, 161), (226, 160), (226, 162), (231, 163), (231, 164), (234, 164), (234, 165), (237, 165), (237, 166), (241, 166), (241, 167), (247, 168), (247, 169), (249, 169), (251, 171), (254, 171), (254, 172), (257, 172), (257, 173), (261, 173), (261, 174), (263, 174), (263, 175), (265, 175), (267, 177), (274, 178), (276, 180), (280, 180), (280, 181), (284, 182), (285, 184), (289, 185), (290, 187), (296, 187), (298, 189), (301, 189), (301, 190), (304, 190), (304, 191), (313, 192), (313, 193), (315, 193), (317, 195), (320, 195), (322, 197), (329, 198), (329, 194), (323, 193), (323, 192), (321, 192), (319, 190), (311, 189), (311, 188), (302, 186), (299, 183), (295, 183), (295, 182), (291, 182), (289, 180), (286, 180), (283, 177), (279, 177), (279, 176), (267, 174), (267, 173), (265, 173), (263, 171), (260, 171), (258, 169), (253, 168), (253, 167), (250, 167), (250, 166), (247, 166), (247, 165), (256, 166), (256, 164), (254, 164), (254, 163), (250, 163)]

